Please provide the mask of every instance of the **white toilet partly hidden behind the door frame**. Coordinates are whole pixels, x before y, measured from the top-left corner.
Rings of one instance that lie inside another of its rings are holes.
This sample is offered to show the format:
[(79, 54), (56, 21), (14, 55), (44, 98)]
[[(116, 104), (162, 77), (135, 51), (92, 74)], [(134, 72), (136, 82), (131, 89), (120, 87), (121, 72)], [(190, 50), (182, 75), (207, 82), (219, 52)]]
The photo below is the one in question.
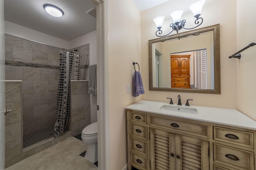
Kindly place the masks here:
[(82, 141), (87, 144), (84, 158), (92, 163), (98, 161), (98, 122), (86, 126), (81, 134)]

